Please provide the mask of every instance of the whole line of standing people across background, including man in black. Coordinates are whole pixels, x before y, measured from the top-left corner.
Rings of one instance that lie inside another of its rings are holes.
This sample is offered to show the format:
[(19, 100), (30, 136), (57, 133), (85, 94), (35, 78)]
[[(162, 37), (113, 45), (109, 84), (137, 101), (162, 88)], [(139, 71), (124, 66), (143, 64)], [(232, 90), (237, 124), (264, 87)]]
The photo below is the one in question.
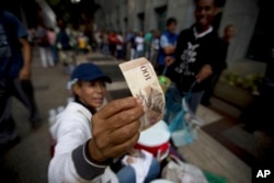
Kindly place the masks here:
[[(212, 4), (206, 12), (196, 10), (196, 22), (180, 34), (176, 33), (175, 18), (167, 20), (163, 32), (150, 30), (144, 33), (129, 30), (123, 33), (96, 30), (89, 32), (89, 35), (81, 25), (78, 30), (68, 28), (60, 19), (57, 20), (56, 30), (38, 25), (34, 37), (39, 46), (42, 66), (53, 67), (60, 61), (69, 73), (75, 67), (75, 55), (81, 53), (100, 52), (104, 56), (123, 60), (146, 57), (157, 75), (169, 77), (182, 95), (196, 81), (190, 100), (191, 108), (195, 112), (203, 95), (206, 96), (202, 103), (209, 104), (214, 85), (226, 68), (228, 42), (233, 35), (232, 33), (227, 41), (218, 36), (213, 26), (215, 9)], [(233, 30), (233, 26), (229, 25), (229, 28)]]

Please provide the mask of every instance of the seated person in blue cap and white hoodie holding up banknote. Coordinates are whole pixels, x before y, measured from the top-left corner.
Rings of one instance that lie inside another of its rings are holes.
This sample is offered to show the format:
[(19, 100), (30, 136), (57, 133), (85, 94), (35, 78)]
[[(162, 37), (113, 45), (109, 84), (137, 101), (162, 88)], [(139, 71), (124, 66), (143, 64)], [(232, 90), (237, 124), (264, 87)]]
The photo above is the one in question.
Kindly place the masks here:
[[(68, 88), (75, 101), (50, 126), (55, 146), (48, 167), (49, 183), (136, 182), (133, 167), (123, 167), (115, 174), (110, 164), (137, 142), (139, 118), (144, 115), (141, 101), (119, 99), (96, 111), (103, 104), (105, 82), (112, 82), (111, 78), (91, 62), (73, 70)], [(151, 161), (145, 182), (156, 179), (159, 171), (158, 162)]]

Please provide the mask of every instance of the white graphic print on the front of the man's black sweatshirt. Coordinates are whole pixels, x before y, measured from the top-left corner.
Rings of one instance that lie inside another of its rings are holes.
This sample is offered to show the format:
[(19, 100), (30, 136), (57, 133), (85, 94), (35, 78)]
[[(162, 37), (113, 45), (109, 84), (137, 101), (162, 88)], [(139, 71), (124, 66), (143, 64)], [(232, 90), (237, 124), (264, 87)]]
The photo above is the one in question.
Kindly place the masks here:
[(193, 64), (196, 61), (196, 48), (198, 47), (198, 44), (192, 45), (191, 42), (187, 42), (187, 48), (184, 49), (183, 54), (181, 55), (181, 64), (175, 68), (175, 71), (178, 73), (183, 73), (184, 76), (194, 76), (195, 72), (192, 72), (190, 70), (190, 64)]

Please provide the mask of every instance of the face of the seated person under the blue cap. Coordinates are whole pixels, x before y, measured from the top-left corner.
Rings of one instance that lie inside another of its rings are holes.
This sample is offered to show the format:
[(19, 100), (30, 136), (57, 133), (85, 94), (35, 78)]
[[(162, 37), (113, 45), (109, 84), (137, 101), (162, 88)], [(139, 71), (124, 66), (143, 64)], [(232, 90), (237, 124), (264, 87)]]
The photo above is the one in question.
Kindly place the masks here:
[(90, 107), (100, 107), (105, 95), (105, 83), (103, 81), (81, 81), (75, 85), (75, 92), (79, 100)]

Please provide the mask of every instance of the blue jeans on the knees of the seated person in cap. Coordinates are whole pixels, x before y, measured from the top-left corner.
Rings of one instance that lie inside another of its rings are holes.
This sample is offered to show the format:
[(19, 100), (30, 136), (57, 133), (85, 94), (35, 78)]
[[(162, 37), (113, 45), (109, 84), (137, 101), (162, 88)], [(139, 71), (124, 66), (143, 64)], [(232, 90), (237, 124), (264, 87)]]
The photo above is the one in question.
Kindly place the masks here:
[[(150, 164), (147, 178), (145, 179), (145, 183), (148, 183), (152, 181), (153, 179), (157, 179), (159, 173), (160, 173), (160, 164), (153, 158)], [(116, 175), (118, 178), (119, 183), (135, 183), (136, 182), (135, 170), (132, 165), (124, 167), (117, 172)]]

